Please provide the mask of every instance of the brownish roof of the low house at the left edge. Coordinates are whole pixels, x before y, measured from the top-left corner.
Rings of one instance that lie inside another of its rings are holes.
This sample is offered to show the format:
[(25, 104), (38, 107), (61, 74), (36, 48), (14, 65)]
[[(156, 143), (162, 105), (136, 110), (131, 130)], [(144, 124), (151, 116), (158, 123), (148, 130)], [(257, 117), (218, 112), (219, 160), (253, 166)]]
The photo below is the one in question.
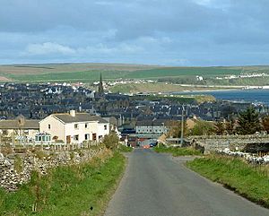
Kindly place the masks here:
[(36, 129), (39, 130), (39, 120), (26, 120), (19, 125), (18, 120), (0, 120), (0, 129)]

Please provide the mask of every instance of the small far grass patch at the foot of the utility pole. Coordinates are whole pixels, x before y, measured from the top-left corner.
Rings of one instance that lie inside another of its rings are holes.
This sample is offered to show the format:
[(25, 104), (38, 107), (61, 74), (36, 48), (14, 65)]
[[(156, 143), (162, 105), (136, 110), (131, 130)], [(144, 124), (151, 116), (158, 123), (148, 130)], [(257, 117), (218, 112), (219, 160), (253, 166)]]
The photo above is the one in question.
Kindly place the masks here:
[(187, 155), (203, 155), (201, 151), (195, 150), (192, 147), (165, 147), (163, 145), (153, 148), (157, 153), (171, 153), (174, 157)]

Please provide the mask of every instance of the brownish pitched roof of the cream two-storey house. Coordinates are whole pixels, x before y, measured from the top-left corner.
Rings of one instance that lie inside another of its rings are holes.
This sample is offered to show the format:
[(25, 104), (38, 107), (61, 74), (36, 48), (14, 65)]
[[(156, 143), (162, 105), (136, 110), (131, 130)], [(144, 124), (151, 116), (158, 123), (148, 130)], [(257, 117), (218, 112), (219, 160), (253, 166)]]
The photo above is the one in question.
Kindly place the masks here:
[(88, 113), (76, 113), (75, 117), (72, 117), (69, 113), (52, 114), (52, 116), (60, 119), (64, 123), (90, 122), (90, 121), (98, 121), (99, 123), (108, 123), (108, 121), (106, 121), (102, 117), (91, 116)]

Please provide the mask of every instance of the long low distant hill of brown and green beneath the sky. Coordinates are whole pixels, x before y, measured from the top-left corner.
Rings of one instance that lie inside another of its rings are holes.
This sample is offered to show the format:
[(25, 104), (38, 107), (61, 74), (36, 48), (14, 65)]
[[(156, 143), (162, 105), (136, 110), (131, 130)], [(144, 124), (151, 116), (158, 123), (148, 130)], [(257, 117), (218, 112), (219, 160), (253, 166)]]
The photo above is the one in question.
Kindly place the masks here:
[(170, 67), (124, 64), (27, 64), (0, 65), (0, 80), (17, 82), (94, 82), (104, 80), (161, 79), (187, 76), (223, 76), (241, 73), (269, 73), (269, 66)]

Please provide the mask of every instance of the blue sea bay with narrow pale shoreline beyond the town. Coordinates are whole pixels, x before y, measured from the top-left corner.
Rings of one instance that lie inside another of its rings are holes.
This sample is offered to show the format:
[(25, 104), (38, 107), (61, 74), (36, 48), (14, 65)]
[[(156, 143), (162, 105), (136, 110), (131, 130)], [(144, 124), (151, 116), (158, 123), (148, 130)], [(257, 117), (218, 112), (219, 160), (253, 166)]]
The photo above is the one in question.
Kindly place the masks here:
[(213, 95), (216, 99), (262, 103), (269, 106), (269, 90), (178, 91), (180, 95)]

